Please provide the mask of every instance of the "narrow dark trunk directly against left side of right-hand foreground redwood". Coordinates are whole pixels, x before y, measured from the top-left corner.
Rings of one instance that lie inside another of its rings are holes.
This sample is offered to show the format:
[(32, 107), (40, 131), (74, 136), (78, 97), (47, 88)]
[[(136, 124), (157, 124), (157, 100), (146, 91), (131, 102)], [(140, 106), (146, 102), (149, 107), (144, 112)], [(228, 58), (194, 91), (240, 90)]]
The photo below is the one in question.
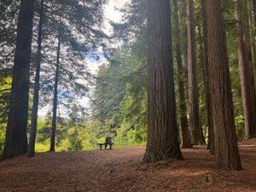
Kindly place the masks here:
[(212, 120), (212, 94), (209, 84), (209, 62), (208, 62), (208, 48), (207, 48), (207, 13), (206, 13), (206, 1), (201, 0), (201, 13), (203, 21), (203, 76), (204, 86), (206, 93), (206, 105), (207, 105), (207, 125), (208, 125), (208, 143), (207, 148), (211, 154), (214, 154), (214, 132), (213, 132), (213, 120)]

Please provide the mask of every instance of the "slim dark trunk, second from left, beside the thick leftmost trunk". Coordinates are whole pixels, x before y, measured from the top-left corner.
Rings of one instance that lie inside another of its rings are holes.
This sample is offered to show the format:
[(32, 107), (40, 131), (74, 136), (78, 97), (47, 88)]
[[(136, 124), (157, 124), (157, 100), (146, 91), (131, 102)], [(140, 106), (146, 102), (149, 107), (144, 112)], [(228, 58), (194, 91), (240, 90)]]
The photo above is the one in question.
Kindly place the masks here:
[(33, 96), (33, 106), (32, 106), (32, 124), (31, 132), (29, 137), (28, 146), (28, 157), (35, 156), (35, 143), (37, 136), (37, 126), (38, 126), (38, 100), (39, 100), (39, 89), (40, 89), (40, 66), (41, 66), (41, 50), (42, 50), (42, 28), (43, 28), (43, 17), (44, 17), (44, 0), (41, 0), (41, 7), (39, 13), (40, 19), (38, 24), (38, 53), (36, 58), (36, 78)]

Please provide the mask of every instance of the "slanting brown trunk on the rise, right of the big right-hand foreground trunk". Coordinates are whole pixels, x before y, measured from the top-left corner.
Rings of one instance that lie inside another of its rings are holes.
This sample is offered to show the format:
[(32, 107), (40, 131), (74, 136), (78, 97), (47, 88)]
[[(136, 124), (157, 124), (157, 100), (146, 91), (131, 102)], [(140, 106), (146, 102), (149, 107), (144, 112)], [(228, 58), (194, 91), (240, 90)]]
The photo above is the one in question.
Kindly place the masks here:
[(244, 8), (247, 7), (242, 0), (237, 0), (237, 19), (238, 24), (238, 58), (239, 73), (241, 79), (241, 97), (243, 105), (243, 115), (245, 119), (245, 138), (249, 139), (256, 136), (256, 112), (254, 89), (251, 81), (250, 62), (249, 62), (249, 45), (247, 45), (247, 32), (245, 29)]

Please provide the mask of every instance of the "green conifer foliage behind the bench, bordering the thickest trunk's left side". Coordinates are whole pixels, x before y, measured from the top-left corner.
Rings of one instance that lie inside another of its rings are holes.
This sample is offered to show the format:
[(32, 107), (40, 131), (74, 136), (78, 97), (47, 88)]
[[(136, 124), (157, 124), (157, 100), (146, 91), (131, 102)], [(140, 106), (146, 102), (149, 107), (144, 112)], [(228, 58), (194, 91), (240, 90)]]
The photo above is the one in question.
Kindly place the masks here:
[(115, 143), (146, 140), (145, 56), (134, 48), (115, 49), (110, 65), (100, 67), (97, 76), (93, 98), (101, 102), (94, 102), (93, 118), (101, 119), (102, 131), (113, 134)]

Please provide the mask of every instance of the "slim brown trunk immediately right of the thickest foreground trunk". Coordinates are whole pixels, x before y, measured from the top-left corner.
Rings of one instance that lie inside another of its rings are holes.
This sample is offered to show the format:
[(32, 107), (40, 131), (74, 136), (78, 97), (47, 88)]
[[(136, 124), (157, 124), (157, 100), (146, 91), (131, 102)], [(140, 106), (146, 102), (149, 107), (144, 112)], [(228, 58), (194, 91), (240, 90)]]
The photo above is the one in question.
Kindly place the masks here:
[(181, 55), (181, 46), (180, 46), (180, 29), (178, 21), (178, 11), (177, 11), (177, 0), (173, 0), (173, 34), (175, 36), (175, 52), (176, 52), (176, 61), (177, 61), (177, 86), (178, 86), (178, 96), (179, 96), (179, 109), (180, 109), (180, 124), (182, 131), (182, 148), (192, 148), (189, 137), (189, 122), (187, 119), (187, 106), (186, 106), (186, 97), (184, 91), (184, 82), (183, 82), (183, 65), (182, 65), (182, 55)]

